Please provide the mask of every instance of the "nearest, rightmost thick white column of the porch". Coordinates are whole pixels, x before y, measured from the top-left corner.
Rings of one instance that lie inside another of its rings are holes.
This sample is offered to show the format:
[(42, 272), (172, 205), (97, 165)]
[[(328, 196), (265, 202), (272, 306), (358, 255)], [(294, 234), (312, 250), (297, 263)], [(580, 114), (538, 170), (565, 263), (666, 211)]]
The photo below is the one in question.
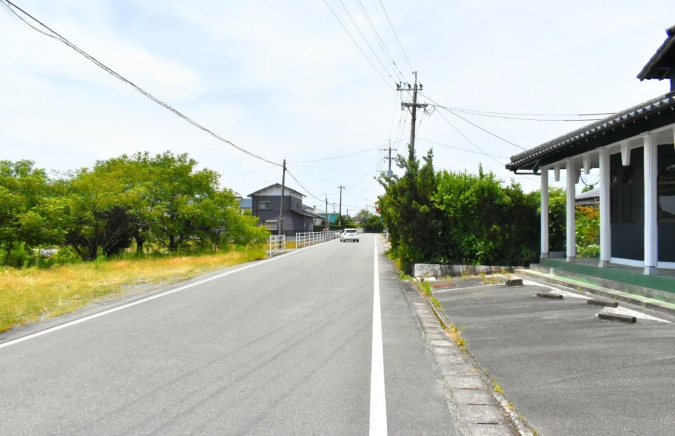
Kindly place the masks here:
[(645, 154), (645, 271), (647, 275), (658, 275), (659, 234), (657, 217), (657, 146), (651, 135), (642, 137)]

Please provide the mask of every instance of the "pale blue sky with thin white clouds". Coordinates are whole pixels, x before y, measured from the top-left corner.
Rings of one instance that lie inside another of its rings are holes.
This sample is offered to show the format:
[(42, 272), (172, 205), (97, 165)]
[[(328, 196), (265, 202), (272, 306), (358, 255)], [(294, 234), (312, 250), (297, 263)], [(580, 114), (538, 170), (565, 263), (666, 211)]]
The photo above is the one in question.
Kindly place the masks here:
[[(383, 192), (374, 180), (387, 169), (380, 149), (391, 141), (407, 153), (401, 98), (410, 95), (395, 91), (399, 75), (412, 83), (418, 72), (421, 103), (616, 112), (668, 92), (667, 81), (636, 75), (675, 25), (672, 0), (12, 1), (214, 133), (268, 161), (285, 159), (297, 179), (287, 174), (286, 183), (307, 195), (304, 204), (337, 204), (343, 186), (351, 214)], [(2, 8), (0, 35), (0, 159), (63, 172), (170, 150), (217, 171), (244, 197), (281, 182), (279, 166), (197, 129)], [(526, 191), (539, 178), (504, 168), (518, 147), (588, 123), (460, 114), (508, 142), (429, 106), (418, 112), (417, 156), (433, 148), (439, 170), (482, 165)], [(584, 179), (595, 183), (597, 170)]]

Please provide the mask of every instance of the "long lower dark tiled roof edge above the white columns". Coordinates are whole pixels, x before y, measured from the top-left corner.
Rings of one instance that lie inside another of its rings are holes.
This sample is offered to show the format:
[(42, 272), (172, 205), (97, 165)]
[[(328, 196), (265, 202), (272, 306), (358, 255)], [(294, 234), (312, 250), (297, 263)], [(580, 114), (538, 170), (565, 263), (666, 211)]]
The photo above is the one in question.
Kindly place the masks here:
[[(539, 166), (538, 163), (545, 160), (547, 157), (550, 157), (554, 153), (559, 154), (559, 152), (569, 152), (569, 149), (581, 142), (588, 143), (586, 144), (586, 148), (590, 149), (606, 145), (604, 144), (606, 141), (601, 142), (598, 141), (597, 138), (604, 136), (607, 132), (614, 131), (617, 127), (625, 127), (631, 123), (647, 120), (650, 116), (661, 114), (666, 110), (675, 111), (675, 92), (670, 92), (644, 103), (640, 103), (600, 121), (596, 121), (595, 123), (512, 156), (511, 162), (506, 165), (506, 168), (514, 172), (519, 169), (536, 169)], [(664, 125), (670, 122), (672, 122), (670, 118), (664, 119), (663, 121)], [(658, 128), (658, 126), (652, 125), (651, 128)], [(633, 136), (632, 133), (627, 132), (627, 134)], [(561, 155), (561, 158), (564, 157), (565, 156)]]

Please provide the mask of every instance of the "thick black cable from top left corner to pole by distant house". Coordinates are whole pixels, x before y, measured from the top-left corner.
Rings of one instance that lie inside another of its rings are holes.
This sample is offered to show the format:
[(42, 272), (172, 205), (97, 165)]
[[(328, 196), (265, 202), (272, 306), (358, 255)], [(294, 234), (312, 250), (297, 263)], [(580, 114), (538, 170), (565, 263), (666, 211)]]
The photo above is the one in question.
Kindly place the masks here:
[[(49, 37), (51, 37), (51, 38), (54, 38), (54, 39), (57, 39), (57, 40), (61, 41), (62, 43), (64, 43), (64, 44), (67, 45), (68, 47), (70, 47), (71, 49), (75, 50), (75, 51), (76, 51), (77, 53), (79, 53), (80, 55), (84, 56), (84, 57), (85, 57), (86, 59), (88, 59), (89, 61), (93, 62), (96, 66), (98, 66), (99, 68), (103, 69), (103, 70), (104, 70), (105, 72), (107, 72), (108, 74), (110, 74), (110, 75), (112, 75), (113, 77), (115, 77), (115, 78), (121, 80), (122, 82), (128, 84), (129, 86), (131, 86), (132, 88), (134, 88), (136, 91), (140, 92), (141, 94), (143, 94), (144, 96), (146, 96), (146, 97), (149, 98), (150, 100), (154, 101), (155, 103), (159, 104), (159, 105), (162, 106), (163, 108), (165, 108), (165, 109), (167, 109), (167, 110), (173, 112), (175, 115), (178, 115), (179, 117), (181, 117), (182, 119), (184, 119), (184, 120), (187, 121), (188, 123), (192, 124), (193, 126), (197, 127), (198, 129), (200, 129), (200, 130), (202, 130), (202, 131), (204, 131), (204, 132), (210, 134), (211, 136), (213, 136), (214, 138), (218, 139), (219, 141), (222, 141), (222, 142), (224, 142), (224, 143), (226, 143), (226, 144), (228, 144), (228, 145), (230, 145), (230, 146), (236, 148), (237, 150), (241, 151), (242, 153), (246, 153), (247, 155), (249, 155), (249, 156), (251, 156), (251, 157), (254, 157), (254, 158), (256, 158), (256, 159), (259, 159), (259, 160), (261, 160), (261, 161), (263, 161), (263, 162), (267, 162), (267, 163), (269, 163), (269, 164), (276, 165), (276, 166), (281, 166), (281, 164), (278, 164), (278, 163), (276, 163), (276, 162), (272, 162), (271, 160), (265, 159), (265, 158), (262, 157), (262, 156), (259, 156), (259, 155), (257, 155), (257, 154), (254, 154), (254, 153), (252, 153), (252, 152), (250, 152), (250, 151), (248, 151), (248, 150), (246, 150), (246, 149), (244, 149), (244, 148), (242, 148), (242, 147), (236, 145), (235, 143), (233, 143), (233, 142), (231, 142), (231, 141), (228, 141), (227, 139), (225, 139), (225, 138), (223, 138), (223, 137), (217, 135), (216, 133), (212, 132), (211, 130), (207, 129), (206, 127), (202, 126), (201, 124), (197, 123), (196, 121), (193, 121), (192, 119), (190, 119), (190, 118), (188, 118), (187, 116), (183, 115), (183, 114), (182, 114), (181, 112), (179, 112), (178, 110), (172, 108), (172, 107), (169, 106), (168, 104), (164, 103), (163, 101), (159, 100), (158, 98), (156, 98), (156, 97), (154, 97), (153, 95), (151, 95), (150, 93), (148, 93), (147, 91), (141, 89), (140, 87), (138, 87), (137, 85), (135, 85), (135, 84), (132, 83), (131, 81), (129, 81), (129, 80), (127, 80), (126, 78), (122, 77), (120, 74), (118, 74), (118, 73), (115, 72), (114, 70), (110, 69), (109, 67), (107, 67), (107, 66), (104, 65), (103, 63), (99, 62), (96, 58), (94, 58), (93, 56), (89, 55), (89, 54), (86, 53), (85, 51), (83, 51), (83, 50), (81, 50), (80, 48), (78, 48), (75, 44), (73, 44), (73, 43), (71, 43), (70, 41), (68, 41), (66, 38), (64, 38), (63, 36), (61, 36), (60, 34), (58, 34), (56, 31), (52, 30), (51, 28), (49, 28), (47, 25), (45, 25), (44, 23), (42, 23), (41, 21), (39, 21), (37, 18), (35, 18), (35, 17), (33, 17), (32, 15), (30, 15), (28, 12), (24, 11), (23, 9), (21, 9), (20, 7), (18, 7), (18, 6), (15, 5), (14, 3), (12, 3), (11, 1), (9, 1), (9, 0), (0, 0), (0, 1), (6, 3), (6, 4), (9, 6), (9, 9), (5, 8), (6, 10), (8, 10), (8, 11), (9, 11), (11, 14), (13, 14), (14, 16), (18, 17), (20, 20), (22, 20), (22, 21), (25, 22), (26, 24), (28, 24), (28, 25), (29, 25), (30, 27), (32, 27), (34, 30), (36, 30), (36, 31), (38, 31), (38, 32), (40, 32), (40, 33), (42, 33), (43, 35), (46, 35), (46, 36), (49, 36)], [(34, 22), (38, 23), (38, 24), (39, 24), (40, 26), (42, 26), (44, 29), (47, 29), (51, 34), (48, 34), (48, 33), (44, 32), (44, 31), (42, 31), (41, 29), (36, 28), (35, 26), (31, 25), (31, 24), (28, 23), (26, 20), (24, 20), (23, 17), (21, 17), (19, 14), (17, 14), (12, 8), (21, 11), (22, 14), (24, 14), (24, 15), (27, 16), (27, 17), (29, 17), (29, 18), (30, 18), (31, 20), (33, 20)]]

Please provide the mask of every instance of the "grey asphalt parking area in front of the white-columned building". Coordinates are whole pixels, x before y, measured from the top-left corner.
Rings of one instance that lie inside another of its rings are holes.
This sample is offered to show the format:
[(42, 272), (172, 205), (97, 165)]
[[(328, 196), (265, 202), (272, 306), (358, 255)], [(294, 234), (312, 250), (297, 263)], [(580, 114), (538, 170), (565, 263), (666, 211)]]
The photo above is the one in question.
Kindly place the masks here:
[[(672, 434), (675, 317), (625, 303), (593, 306), (587, 301), (597, 296), (534, 281), (516, 288), (453, 282), (434, 291), (448, 321), (539, 434)], [(637, 323), (598, 318), (616, 310)]]

